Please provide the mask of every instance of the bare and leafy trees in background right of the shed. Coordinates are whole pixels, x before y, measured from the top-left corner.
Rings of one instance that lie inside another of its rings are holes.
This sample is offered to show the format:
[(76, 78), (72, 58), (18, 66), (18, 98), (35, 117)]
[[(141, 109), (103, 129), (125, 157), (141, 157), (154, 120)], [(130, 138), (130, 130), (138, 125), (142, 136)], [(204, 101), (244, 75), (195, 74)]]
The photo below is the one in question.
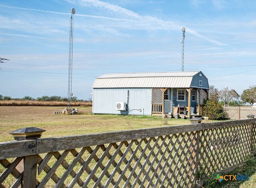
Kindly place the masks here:
[(240, 106), (246, 103), (253, 104), (256, 102), (256, 85), (250, 86), (248, 89), (244, 90), (241, 96), (234, 89), (229, 89), (228, 87), (218, 90), (214, 86), (210, 86), (209, 89), (209, 100), (215, 100), (224, 105), (224, 107)]

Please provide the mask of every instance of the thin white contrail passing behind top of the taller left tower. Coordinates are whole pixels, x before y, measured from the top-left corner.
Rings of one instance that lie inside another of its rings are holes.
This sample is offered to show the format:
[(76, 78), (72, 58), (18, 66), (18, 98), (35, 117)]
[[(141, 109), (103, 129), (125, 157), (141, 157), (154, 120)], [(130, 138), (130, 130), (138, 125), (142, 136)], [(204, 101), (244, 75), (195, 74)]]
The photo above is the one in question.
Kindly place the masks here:
[[(48, 10), (38, 10), (38, 9), (32, 9), (32, 8), (21, 8), (21, 7), (5, 6), (5, 5), (0, 5), (0, 6), (6, 7), (6, 8), (16, 8), (16, 9), (21, 9), (21, 10), (32, 10), (32, 11), (37, 11), (37, 12), (46, 12), (46, 13), (53, 13), (53, 14), (70, 15), (70, 13), (64, 13), (64, 12), (54, 12), (54, 11), (48, 11)], [(76, 16), (90, 17), (90, 18), (102, 18), (102, 19), (116, 20), (116, 21), (136, 22), (134, 20), (129, 20), (129, 19), (109, 18), (109, 17), (105, 17), (105, 16), (93, 16), (93, 15), (85, 15), (85, 14), (76, 14)]]

